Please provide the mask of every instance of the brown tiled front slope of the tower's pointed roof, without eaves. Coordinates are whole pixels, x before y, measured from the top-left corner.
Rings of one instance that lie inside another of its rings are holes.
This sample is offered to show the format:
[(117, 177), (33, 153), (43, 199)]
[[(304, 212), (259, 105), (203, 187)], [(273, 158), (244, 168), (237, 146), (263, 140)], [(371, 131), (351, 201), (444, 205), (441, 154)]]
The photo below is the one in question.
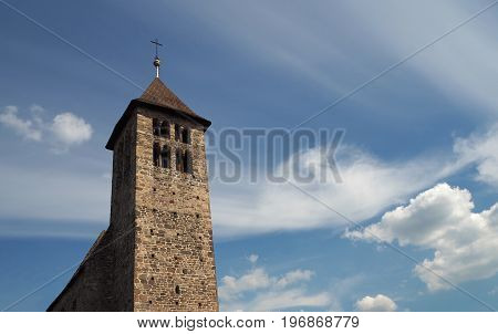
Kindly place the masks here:
[(178, 96), (176, 96), (175, 93), (173, 93), (158, 77), (153, 80), (139, 100), (160, 106), (167, 106), (190, 116), (197, 116), (197, 114), (183, 103), (181, 100), (179, 100)]

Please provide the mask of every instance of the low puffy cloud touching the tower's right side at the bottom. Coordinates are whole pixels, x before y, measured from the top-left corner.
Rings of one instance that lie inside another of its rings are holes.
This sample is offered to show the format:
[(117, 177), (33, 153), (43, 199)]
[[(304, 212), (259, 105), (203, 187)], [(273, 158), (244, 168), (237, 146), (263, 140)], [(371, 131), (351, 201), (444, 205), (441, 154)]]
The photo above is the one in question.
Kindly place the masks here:
[(272, 276), (263, 268), (252, 268), (240, 276), (226, 275), (218, 288), (221, 309), (277, 311), (330, 305), (333, 302), (330, 293), (307, 291), (304, 283), (312, 276), (312, 271), (301, 269)]

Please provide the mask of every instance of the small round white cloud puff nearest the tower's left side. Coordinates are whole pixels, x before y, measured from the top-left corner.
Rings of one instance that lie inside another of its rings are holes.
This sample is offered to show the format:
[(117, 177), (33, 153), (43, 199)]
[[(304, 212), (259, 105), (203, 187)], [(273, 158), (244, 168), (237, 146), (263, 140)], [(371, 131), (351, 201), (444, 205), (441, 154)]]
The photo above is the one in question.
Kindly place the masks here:
[(51, 129), (55, 138), (64, 145), (81, 144), (92, 137), (92, 126), (71, 113), (59, 114), (53, 118)]

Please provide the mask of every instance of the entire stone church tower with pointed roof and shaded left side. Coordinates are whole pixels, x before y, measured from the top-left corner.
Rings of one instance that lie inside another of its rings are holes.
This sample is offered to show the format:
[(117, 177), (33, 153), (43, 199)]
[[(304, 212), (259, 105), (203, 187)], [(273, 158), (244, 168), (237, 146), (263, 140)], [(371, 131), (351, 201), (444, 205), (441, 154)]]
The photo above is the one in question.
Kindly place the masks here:
[(48, 311), (218, 311), (204, 133), (158, 77), (131, 101), (113, 152), (111, 223)]

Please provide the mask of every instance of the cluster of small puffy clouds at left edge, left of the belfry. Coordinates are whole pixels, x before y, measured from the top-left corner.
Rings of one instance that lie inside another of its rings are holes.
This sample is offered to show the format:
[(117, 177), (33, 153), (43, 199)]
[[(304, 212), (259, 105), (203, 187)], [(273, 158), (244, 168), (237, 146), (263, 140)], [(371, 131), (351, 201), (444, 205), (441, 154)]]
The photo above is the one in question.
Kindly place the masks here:
[(7, 106), (0, 113), (0, 123), (24, 139), (49, 143), (55, 153), (66, 152), (70, 146), (92, 137), (92, 126), (72, 113), (58, 114), (52, 122), (46, 123), (42, 118), (45, 112), (42, 106), (33, 104), (29, 109), (30, 117), (22, 118), (17, 106)]

